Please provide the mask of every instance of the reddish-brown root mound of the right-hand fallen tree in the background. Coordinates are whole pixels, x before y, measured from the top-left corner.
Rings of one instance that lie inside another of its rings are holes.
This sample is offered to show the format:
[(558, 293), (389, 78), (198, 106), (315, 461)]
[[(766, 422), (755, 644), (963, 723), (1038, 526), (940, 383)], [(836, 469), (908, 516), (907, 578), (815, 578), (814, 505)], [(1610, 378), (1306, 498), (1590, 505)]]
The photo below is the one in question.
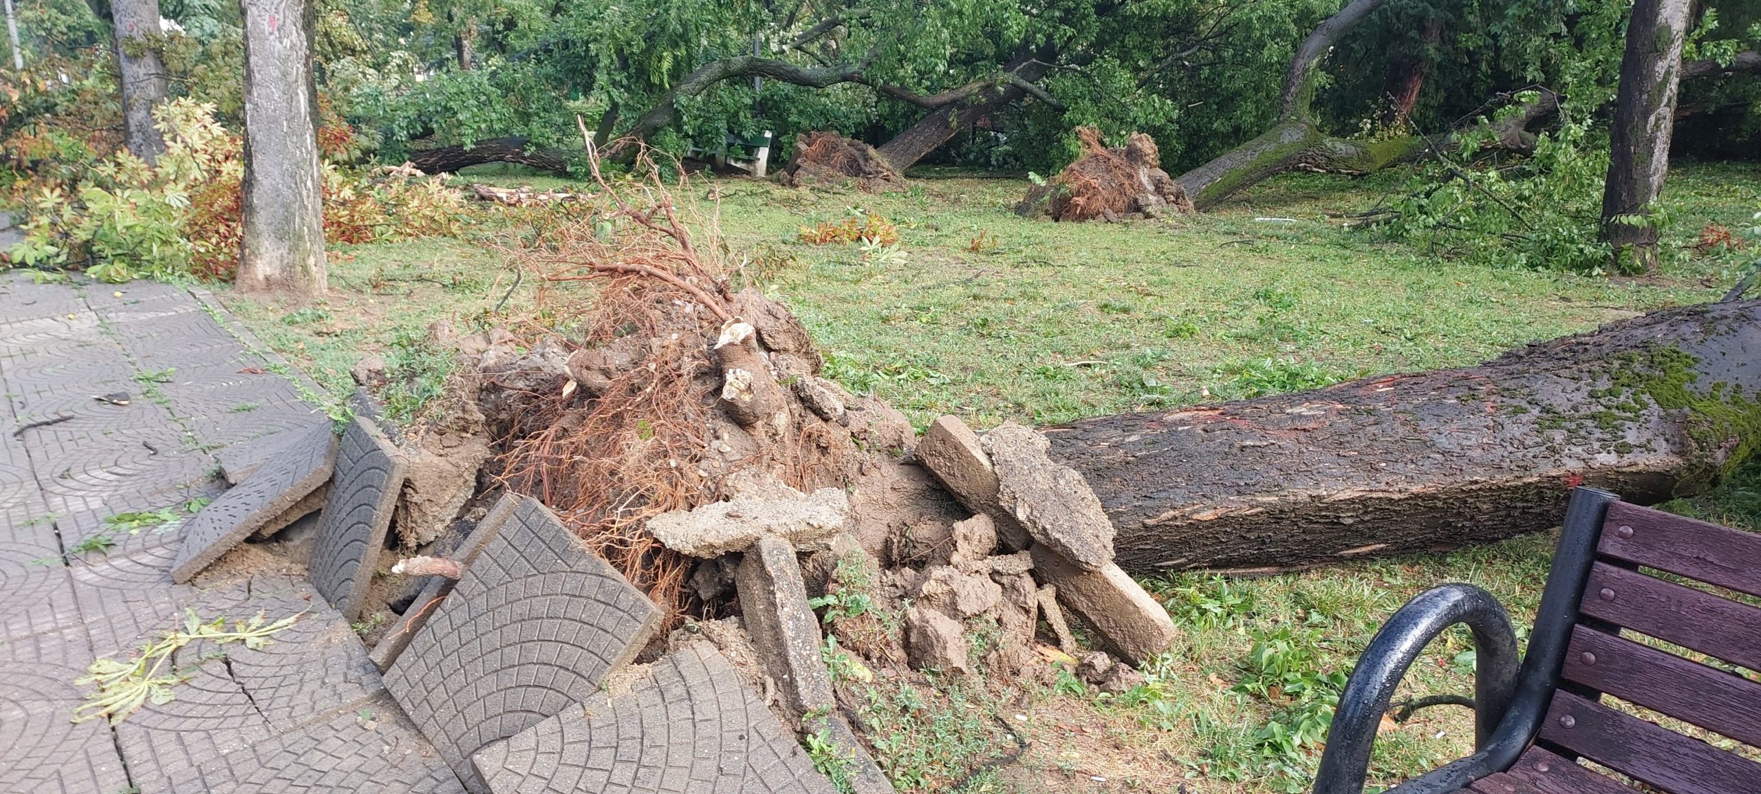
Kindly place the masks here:
[(1076, 137), (1083, 143), (1083, 157), (1030, 188), (1014, 208), (1016, 215), (1118, 222), (1192, 211), (1187, 190), (1160, 169), (1150, 136), (1132, 132), (1122, 148), (1108, 148), (1094, 127), (1078, 127)]

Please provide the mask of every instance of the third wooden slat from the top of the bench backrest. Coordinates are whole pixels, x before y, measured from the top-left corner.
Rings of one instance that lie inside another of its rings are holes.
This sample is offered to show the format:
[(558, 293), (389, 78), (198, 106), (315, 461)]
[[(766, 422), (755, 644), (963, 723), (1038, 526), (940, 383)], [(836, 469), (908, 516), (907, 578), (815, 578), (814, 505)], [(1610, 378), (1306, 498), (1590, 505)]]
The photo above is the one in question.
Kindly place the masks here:
[(1571, 632), (1564, 676), (1761, 746), (1761, 683), (1747, 678), (1585, 627)]

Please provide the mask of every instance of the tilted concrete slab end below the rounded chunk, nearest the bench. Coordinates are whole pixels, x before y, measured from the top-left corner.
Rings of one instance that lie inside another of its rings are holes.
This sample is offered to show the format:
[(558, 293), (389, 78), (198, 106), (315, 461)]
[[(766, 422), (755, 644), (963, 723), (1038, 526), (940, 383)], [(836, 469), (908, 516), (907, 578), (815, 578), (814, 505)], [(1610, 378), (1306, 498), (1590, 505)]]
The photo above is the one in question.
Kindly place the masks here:
[(1180, 636), (1168, 609), (1115, 563), (1083, 570), (1035, 544), (1034, 570), (1041, 581), (1057, 586), (1057, 599), (1099, 634), (1106, 650), (1125, 662), (1143, 664)]

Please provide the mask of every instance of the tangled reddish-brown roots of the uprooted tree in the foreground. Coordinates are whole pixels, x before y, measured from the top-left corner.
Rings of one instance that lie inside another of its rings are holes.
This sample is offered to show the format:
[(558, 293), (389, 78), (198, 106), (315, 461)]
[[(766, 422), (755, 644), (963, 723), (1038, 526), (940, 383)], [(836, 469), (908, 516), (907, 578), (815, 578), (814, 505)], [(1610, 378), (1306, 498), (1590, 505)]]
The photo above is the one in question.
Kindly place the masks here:
[[(527, 266), (544, 273), (537, 296), (542, 326), (572, 327), (585, 349), (645, 342), (641, 364), (602, 384), (576, 405), (571, 380), (518, 417), (500, 481), (551, 507), (593, 551), (648, 593), (671, 620), (687, 606), (690, 560), (648, 533), (650, 518), (711, 498), (694, 465), (710, 444), (718, 370), (706, 338), (727, 322), (727, 268), (713, 217), (682, 210), (660, 171), (643, 153), (639, 180), (593, 178), (611, 201), (609, 217), (565, 224)], [(692, 238), (682, 215), (704, 232)], [(701, 243), (701, 245), (699, 245)], [(593, 282), (592, 298), (571, 282)]]

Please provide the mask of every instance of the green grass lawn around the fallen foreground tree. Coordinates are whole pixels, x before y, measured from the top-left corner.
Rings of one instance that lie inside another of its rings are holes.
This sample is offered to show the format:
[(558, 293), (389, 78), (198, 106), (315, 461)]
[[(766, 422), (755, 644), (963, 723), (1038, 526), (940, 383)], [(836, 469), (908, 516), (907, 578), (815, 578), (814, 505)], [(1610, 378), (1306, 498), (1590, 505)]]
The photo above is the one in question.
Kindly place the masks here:
[[(461, 180), (579, 188), (488, 171)], [(1374, 206), (1396, 183), (1289, 174), (1208, 215), (1122, 225), (1018, 218), (1009, 210), (1025, 180), (912, 180), (888, 195), (694, 180), (682, 195), (715, 217), (740, 278), (801, 315), (833, 377), (919, 424), (939, 414), (981, 428), (1064, 423), (1463, 366), (1715, 299), (1752, 259), (1684, 255), (1655, 278), (1578, 276), (1458, 264), (1342, 227), (1342, 213)], [(1761, 208), (1761, 165), (1680, 167), (1666, 199), (1666, 241), (1685, 246), (1701, 225), (1735, 227)], [(799, 227), (858, 211), (896, 222), (896, 250), (798, 241)], [(511, 257), (497, 248), (505, 231), (484, 224), (460, 241), (343, 246), (328, 299), (296, 312), (229, 305), (333, 400), (352, 389), (347, 371), (366, 352), (435, 386), (444, 366), (419, 343), (430, 322), (493, 324), (504, 299), (511, 312), (532, 305), (535, 275), (514, 287)], [(412, 387), (412, 401), (423, 389)], [(1717, 495), (1673, 507), (1761, 528), (1757, 491), (1750, 467)], [(1442, 581), (1488, 588), (1527, 625), (1550, 548), (1537, 535), (1263, 579), (1150, 579), (1185, 636), (1132, 697), (1074, 680), (933, 692), (877, 680), (879, 755), (905, 790), (1303, 790), (1326, 702), (1300, 692), (1324, 694), (1395, 607)], [(1433, 644), (1409, 694), (1470, 692), (1469, 648), (1465, 632)], [(1018, 764), (958, 773), (1020, 750), (1016, 736), (1028, 743)], [(1470, 745), (1465, 709), (1421, 711), (1384, 732), (1374, 776), (1388, 785)]]

